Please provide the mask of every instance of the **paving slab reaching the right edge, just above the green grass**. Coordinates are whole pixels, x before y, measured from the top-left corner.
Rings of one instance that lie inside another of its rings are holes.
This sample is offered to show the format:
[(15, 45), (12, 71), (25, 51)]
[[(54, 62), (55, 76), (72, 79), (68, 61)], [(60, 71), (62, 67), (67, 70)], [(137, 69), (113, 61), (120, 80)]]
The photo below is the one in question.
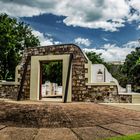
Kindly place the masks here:
[(107, 124), (107, 125), (103, 125), (103, 127), (121, 133), (123, 135), (140, 133), (140, 127), (125, 125), (120, 123)]

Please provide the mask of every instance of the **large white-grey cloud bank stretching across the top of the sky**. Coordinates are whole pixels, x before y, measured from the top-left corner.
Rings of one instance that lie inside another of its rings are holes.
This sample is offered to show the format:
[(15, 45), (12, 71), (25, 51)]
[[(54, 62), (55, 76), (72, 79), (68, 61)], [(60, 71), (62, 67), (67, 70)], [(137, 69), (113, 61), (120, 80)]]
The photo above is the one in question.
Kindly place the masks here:
[[(136, 10), (131, 13), (131, 8)], [(117, 31), (125, 22), (140, 19), (140, 0), (1, 0), (0, 12), (11, 16), (42, 13), (65, 16), (68, 26)]]

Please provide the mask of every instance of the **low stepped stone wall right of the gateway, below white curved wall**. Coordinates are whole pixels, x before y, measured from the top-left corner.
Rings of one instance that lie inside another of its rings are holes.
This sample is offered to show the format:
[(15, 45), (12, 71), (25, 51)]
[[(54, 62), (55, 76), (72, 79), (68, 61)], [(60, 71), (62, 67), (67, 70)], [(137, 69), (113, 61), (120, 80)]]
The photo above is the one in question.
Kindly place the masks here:
[(88, 85), (85, 101), (95, 103), (131, 103), (131, 95), (119, 95), (116, 85)]

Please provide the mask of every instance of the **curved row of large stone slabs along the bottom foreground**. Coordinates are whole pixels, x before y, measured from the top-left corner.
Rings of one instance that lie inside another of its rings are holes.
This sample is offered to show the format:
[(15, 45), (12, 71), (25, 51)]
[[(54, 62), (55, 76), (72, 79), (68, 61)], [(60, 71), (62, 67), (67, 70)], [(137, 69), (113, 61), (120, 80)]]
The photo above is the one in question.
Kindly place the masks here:
[(140, 133), (140, 121), (77, 128), (20, 128), (0, 125), (0, 140), (103, 140)]

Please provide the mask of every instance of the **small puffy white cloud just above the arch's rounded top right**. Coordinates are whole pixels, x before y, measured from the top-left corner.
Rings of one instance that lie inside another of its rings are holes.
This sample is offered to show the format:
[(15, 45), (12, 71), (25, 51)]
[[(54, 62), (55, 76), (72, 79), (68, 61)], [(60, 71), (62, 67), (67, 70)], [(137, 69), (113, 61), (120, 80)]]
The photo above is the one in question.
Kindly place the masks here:
[(87, 38), (81, 38), (81, 37), (78, 37), (74, 40), (74, 42), (78, 45), (84, 45), (86, 47), (90, 46), (91, 45), (91, 41)]

